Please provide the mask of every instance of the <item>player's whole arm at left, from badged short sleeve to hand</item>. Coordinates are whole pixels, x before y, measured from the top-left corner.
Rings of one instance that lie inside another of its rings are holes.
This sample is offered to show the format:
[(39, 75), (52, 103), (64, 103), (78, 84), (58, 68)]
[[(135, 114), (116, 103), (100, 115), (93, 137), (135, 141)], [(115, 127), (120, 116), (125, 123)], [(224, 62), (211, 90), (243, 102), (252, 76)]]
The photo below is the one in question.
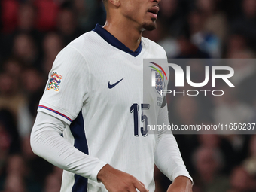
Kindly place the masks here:
[[(79, 151), (62, 132), (78, 117), (90, 95), (89, 69), (84, 57), (71, 47), (62, 50), (53, 63), (49, 82), (42, 97), (31, 133), (35, 154), (48, 162), (93, 181), (102, 181), (110, 192), (147, 192), (132, 175), (121, 172), (107, 163)], [(52, 82), (54, 78), (59, 82)], [(51, 84), (53, 83), (53, 84)], [(56, 88), (58, 90), (56, 90)], [(74, 128), (74, 127), (73, 127)], [(72, 128), (71, 128), (72, 129)], [(118, 186), (117, 186), (118, 184)]]

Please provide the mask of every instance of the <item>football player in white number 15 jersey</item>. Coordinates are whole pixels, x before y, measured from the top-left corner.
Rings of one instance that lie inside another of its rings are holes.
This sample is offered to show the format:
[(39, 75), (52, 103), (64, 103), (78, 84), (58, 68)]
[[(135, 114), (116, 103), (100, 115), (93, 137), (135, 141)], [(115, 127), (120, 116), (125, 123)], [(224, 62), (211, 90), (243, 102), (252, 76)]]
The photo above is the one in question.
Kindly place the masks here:
[(105, 26), (56, 56), (31, 145), (64, 169), (62, 192), (154, 191), (154, 164), (173, 181), (169, 192), (192, 191), (174, 136), (140, 129), (145, 120), (169, 124), (166, 99), (155, 87), (143, 99), (143, 59), (166, 59), (162, 47), (142, 37), (156, 29), (159, 3), (104, 0)]

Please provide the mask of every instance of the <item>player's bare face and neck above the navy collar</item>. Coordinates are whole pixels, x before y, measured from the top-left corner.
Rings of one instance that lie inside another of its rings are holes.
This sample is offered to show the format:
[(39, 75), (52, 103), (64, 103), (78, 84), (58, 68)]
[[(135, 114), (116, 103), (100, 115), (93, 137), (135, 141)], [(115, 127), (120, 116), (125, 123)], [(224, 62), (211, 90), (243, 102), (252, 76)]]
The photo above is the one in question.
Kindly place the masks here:
[(157, 28), (156, 18), (148, 9), (157, 7), (160, 0), (108, 0), (105, 3), (107, 20), (103, 26), (119, 41), (135, 51), (142, 31)]

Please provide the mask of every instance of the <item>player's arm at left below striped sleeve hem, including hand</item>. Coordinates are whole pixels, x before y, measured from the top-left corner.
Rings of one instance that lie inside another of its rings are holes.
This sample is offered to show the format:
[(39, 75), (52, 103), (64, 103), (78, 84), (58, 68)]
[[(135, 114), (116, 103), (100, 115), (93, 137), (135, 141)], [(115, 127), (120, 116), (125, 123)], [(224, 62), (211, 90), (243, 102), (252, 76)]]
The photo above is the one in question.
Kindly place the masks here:
[(148, 192), (144, 184), (132, 175), (74, 148), (61, 136), (66, 126), (62, 120), (39, 111), (31, 134), (34, 153), (66, 171), (101, 181), (110, 192), (136, 192), (136, 188)]

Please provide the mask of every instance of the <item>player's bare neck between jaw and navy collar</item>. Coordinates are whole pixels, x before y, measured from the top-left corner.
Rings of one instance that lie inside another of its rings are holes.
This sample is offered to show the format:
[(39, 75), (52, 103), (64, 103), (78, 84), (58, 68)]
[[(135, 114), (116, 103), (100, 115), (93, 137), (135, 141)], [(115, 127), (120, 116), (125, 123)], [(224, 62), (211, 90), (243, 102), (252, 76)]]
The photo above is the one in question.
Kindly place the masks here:
[(124, 25), (123, 22), (111, 22), (107, 20), (103, 28), (110, 32), (111, 35), (114, 35), (115, 38), (130, 50), (136, 51), (139, 47), (142, 32), (136, 29), (136, 27)]

